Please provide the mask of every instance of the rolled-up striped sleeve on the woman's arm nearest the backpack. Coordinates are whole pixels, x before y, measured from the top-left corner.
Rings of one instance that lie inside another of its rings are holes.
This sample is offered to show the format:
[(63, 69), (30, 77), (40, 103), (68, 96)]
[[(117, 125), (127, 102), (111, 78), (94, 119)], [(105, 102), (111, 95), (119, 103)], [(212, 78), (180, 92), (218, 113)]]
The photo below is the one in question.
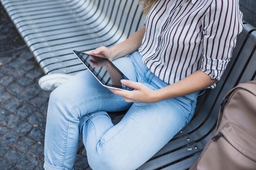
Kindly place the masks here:
[[(200, 70), (220, 80), (232, 56), (237, 35), (243, 30), (238, 0), (213, 0), (204, 15)], [(212, 85), (209, 88), (214, 88)]]

